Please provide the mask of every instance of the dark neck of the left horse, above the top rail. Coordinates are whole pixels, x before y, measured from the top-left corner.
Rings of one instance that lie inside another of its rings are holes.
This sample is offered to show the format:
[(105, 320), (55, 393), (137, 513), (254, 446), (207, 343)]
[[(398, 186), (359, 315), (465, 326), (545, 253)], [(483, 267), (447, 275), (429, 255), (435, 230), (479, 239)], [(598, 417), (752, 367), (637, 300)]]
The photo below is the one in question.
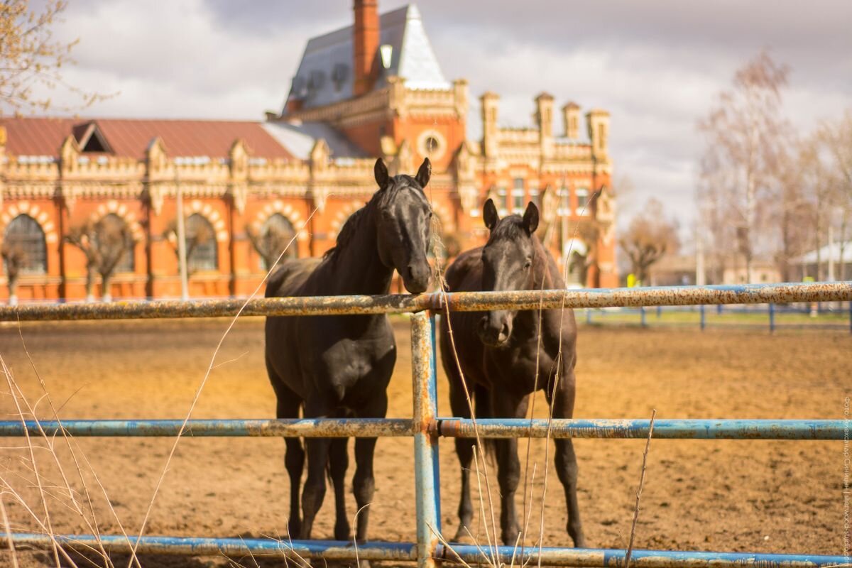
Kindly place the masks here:
[(320, 286), (328, 288), (330, 295), (387, 294), (394, 269), (384, 266), (378, 255), (376, 237), (376, 209), (367, 204), (359, 227), (348, 243), (335, 253), (336, 258), (322, 274)]

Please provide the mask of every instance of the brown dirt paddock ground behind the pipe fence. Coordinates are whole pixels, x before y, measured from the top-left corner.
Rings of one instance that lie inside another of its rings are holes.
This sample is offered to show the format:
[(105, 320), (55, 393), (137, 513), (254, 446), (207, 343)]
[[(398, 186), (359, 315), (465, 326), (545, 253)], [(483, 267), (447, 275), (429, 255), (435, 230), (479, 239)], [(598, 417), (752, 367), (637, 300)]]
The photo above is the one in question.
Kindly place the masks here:
[[(225, 320), (25, 324), (26, 347), (63, 418), (182, 418), (204, 377)], [(412, 412), (408, 322), (395, 318), (399, 358), (390, 387), (392, 417)], [(239, 322), (216, 359), (194, 418), (268, 418), (274, 397), (263, 366), (261, 319)], [(0, 355), (37, 414), (49, 417), (32, 366), (14, 326), (0, 328)], [(852, 338), (842, 332), (580, 330), (576, 417), (840, 418), (852, 395)], [(16, 418), (3, 382), (0, 412)], [(439, 377), (440, 414), (447, 415)], [(546, 405), (537, 400), (536, 414)], [(102, 534), (139, 530), (172, 439), (77, 439), (83, 479)], [(22, 439), (2, 439), (4, 484), (43, 518)], [(44, 445), (44, 442), (39, 442)], [(60, 462), (83, 490), (62, 441)], [(579, 502), (590, 547), (625, 548), (642, 464), (642, 440), (579, 440)], [(521, 441), (521, 463), (526, 444)], [(351, 451), (351, 444), (350, 444)], [(552, 450), (551, 450), (552, 451)], [(544, 442), (536, 464), (529, 539), (538, 534)], [(286, 535), (288, 480), (280, 439), (183, 439), (160, 488), (148, 535)], [(50, 521), (57, 533), (89, 533), (73, 510), (48, 450), (35, 453)], [(458, 462), (452, 440), (440, 445), (442, 522), (455, 533)], [(552, 466), (550, 466), (552, 468)], [(92, 472), (97, 474), (95, 475)], [(374, 539), (415, 536), (412, 441), (382, 439), (377, 447), (377, 493), (371, 506)], [(352, 467), (348, 473), (351, 479)], [(98, 488), (103, 485), (109, 502)], [(564, 498), (550, 471), (544, 543), (566, 546)], [(496, 484), (495, 484), (496, 485)], [(840, 554), (843, 528), (843, 443), (654, 440), (642, 495), (636, 548)], [(519, 509), (521, 491), (519, 490)], [(495, 500), (497, 496), (494, 496)], [(475, 496), (476, 499), (476, 496)], [(354, 515), (354, 498), (348, 495)], [(331, 492), (315, 538), (331, 538)], [(81, 506), (86, 508), (84, 499)], [(478, 502), (477, 502), (478, 503)], [(3, 505), (15, 531), (40, 531), (10, 495)], [(111, 512), (112, 505), (115, 515)], [(487, 508), (487, 500), (485, 500)], [(488, 516), (488, 515), (486, 515)], [(89, 521), (90, 522), (90, 521)], [(481, 535), (484, 542), (484, 534)], [(55, 565), (49, 555), (20, 552), (25, 567)], [(251, 559), (238, 559), (253, 566)], [(148, 556), (146, 566), (220, 565), (222, 559)], [(0, 565), (11, 565), (0, 551)], [(80, 562), (81, 566), (89, 565)]]

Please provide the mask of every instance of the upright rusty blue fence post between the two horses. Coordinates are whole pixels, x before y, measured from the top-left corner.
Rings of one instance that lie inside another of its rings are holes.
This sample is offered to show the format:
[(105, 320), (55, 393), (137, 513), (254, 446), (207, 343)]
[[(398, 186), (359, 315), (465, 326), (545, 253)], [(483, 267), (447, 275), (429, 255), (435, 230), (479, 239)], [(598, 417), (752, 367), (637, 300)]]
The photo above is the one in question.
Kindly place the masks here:
[(437, 502), (438, 438), (429, 432), (437, 416), (432, 342), (434, 324), (425, 312), (412, 315), (414, 383), (414, 487), (417, 493), (417, 566), (435, 568), (440, 531)]

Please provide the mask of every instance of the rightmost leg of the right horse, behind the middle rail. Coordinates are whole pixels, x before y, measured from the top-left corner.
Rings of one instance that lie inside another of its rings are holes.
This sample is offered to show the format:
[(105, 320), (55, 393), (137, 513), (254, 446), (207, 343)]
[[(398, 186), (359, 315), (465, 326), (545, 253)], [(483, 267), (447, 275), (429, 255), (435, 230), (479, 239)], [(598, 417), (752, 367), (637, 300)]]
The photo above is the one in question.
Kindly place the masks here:
[[(575, 377), (572, 370), (566, 371), (566, 376), (556, 389), (550, 404), (554, 404), (554, 418), (571, 418), (574, 413)], [(577, 504), (577, 455), (571, 439), (556, 440), (556, 473), (559, 475), (565, 490), (565, 505), (567, 508), (566, 531), (577, 548), (585, 547), (583, 525), (580, 522), (579, 506)]]

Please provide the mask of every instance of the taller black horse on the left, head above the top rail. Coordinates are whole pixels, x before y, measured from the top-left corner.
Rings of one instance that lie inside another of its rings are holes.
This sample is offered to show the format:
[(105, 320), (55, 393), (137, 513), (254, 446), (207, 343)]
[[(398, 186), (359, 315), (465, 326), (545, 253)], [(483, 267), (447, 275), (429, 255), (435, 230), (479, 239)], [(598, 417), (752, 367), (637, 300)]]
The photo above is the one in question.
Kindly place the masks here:
[[(423, 187), (429, 159), (417, 175), (390, 176), (381, 159), (375, 167), (378, 191), (349, 217), (337, 246), (322, 261), (286, 261), (269, 279), (266, 296), (387, 294), (394, 269), (413, 294), (426, 290), (431, 268), (426, 253), (432, 209)], [(386, 389), (396, 362), (393, 330), (385, 315), (269, 317), (266, 364), (278, 399), (279, 418), (383, 418)], [(345, 505), (348, 439), (286, 439), (290, 474), (289, 531), (311, 537), (314, 517), (325, 496), (326, 468), (334, 485), (337, 522), (334, 537), (350, 539)], [(355, 502), (361, 509), (373, 497), (375, 438), (355, 440)], [(299, 512), (299, 485), (308, 454), (308, 479)], [(368, 510), (360, 512), (356, 538), (366, 539)]]

